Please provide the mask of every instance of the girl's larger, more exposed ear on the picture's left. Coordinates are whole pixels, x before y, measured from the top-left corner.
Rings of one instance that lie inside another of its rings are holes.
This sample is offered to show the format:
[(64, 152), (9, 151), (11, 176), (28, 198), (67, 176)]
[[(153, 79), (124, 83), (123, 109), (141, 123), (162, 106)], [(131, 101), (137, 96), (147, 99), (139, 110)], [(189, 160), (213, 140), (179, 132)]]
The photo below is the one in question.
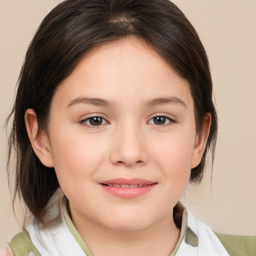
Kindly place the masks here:
[(25, 112), (25, 124), (34, 153), (43, 165), (53, 167), (48, 136), (44, 132), (38, 130), (36, 113), (32, 108), (27, 109)]

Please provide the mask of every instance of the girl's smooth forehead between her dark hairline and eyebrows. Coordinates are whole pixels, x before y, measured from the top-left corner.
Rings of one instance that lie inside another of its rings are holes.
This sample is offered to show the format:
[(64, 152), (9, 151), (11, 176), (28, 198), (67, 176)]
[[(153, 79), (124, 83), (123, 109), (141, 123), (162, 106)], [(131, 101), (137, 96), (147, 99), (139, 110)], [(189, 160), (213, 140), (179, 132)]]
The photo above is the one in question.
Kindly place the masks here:
[(122, 100), (120, 95), (141, 100), (175, 96), (167, 94), (190, 95), (187, 81), (150, 45), (134, 37), (91, 49), (61, 82), (58, 91), (69, 99), (79, 94), (101, 98), (117, 95), (115, 100)]

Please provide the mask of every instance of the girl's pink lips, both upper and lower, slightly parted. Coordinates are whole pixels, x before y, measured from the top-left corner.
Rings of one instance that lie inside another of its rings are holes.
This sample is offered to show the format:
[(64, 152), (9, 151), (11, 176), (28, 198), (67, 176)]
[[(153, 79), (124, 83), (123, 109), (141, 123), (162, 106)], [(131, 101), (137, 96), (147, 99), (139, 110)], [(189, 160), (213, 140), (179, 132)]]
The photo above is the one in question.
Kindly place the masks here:
[[(134, 198), (149, 192), (157, 183), (142, 178), (115, 178), (105, 180), (99, 184), (110, 194), (122, 198)], [(122, 187), (127, 185), (131, 185), (132, 187)]]

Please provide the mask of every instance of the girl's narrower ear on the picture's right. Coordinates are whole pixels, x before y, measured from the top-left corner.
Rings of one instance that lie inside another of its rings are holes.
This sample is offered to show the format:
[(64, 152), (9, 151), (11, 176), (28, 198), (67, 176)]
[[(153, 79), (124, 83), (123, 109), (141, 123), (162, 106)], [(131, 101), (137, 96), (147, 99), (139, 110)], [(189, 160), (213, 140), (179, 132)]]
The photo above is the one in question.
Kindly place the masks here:
[(191, 159), (191, 169), (196, 167), (202, 158), (210, 130), (211, 115), (208, 113), (202, 123), (200, 134), (196, 134)]

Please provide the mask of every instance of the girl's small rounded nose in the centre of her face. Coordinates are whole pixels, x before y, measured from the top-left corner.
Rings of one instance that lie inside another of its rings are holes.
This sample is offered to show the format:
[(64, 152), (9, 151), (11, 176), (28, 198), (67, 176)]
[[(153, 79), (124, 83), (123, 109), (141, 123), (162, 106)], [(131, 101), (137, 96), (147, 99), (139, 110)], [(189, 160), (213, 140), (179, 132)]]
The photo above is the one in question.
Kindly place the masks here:
[(110, 162), (130, 167), (148, 161), (146, 139), (143, 132), (133, 125), (115, 131)]

